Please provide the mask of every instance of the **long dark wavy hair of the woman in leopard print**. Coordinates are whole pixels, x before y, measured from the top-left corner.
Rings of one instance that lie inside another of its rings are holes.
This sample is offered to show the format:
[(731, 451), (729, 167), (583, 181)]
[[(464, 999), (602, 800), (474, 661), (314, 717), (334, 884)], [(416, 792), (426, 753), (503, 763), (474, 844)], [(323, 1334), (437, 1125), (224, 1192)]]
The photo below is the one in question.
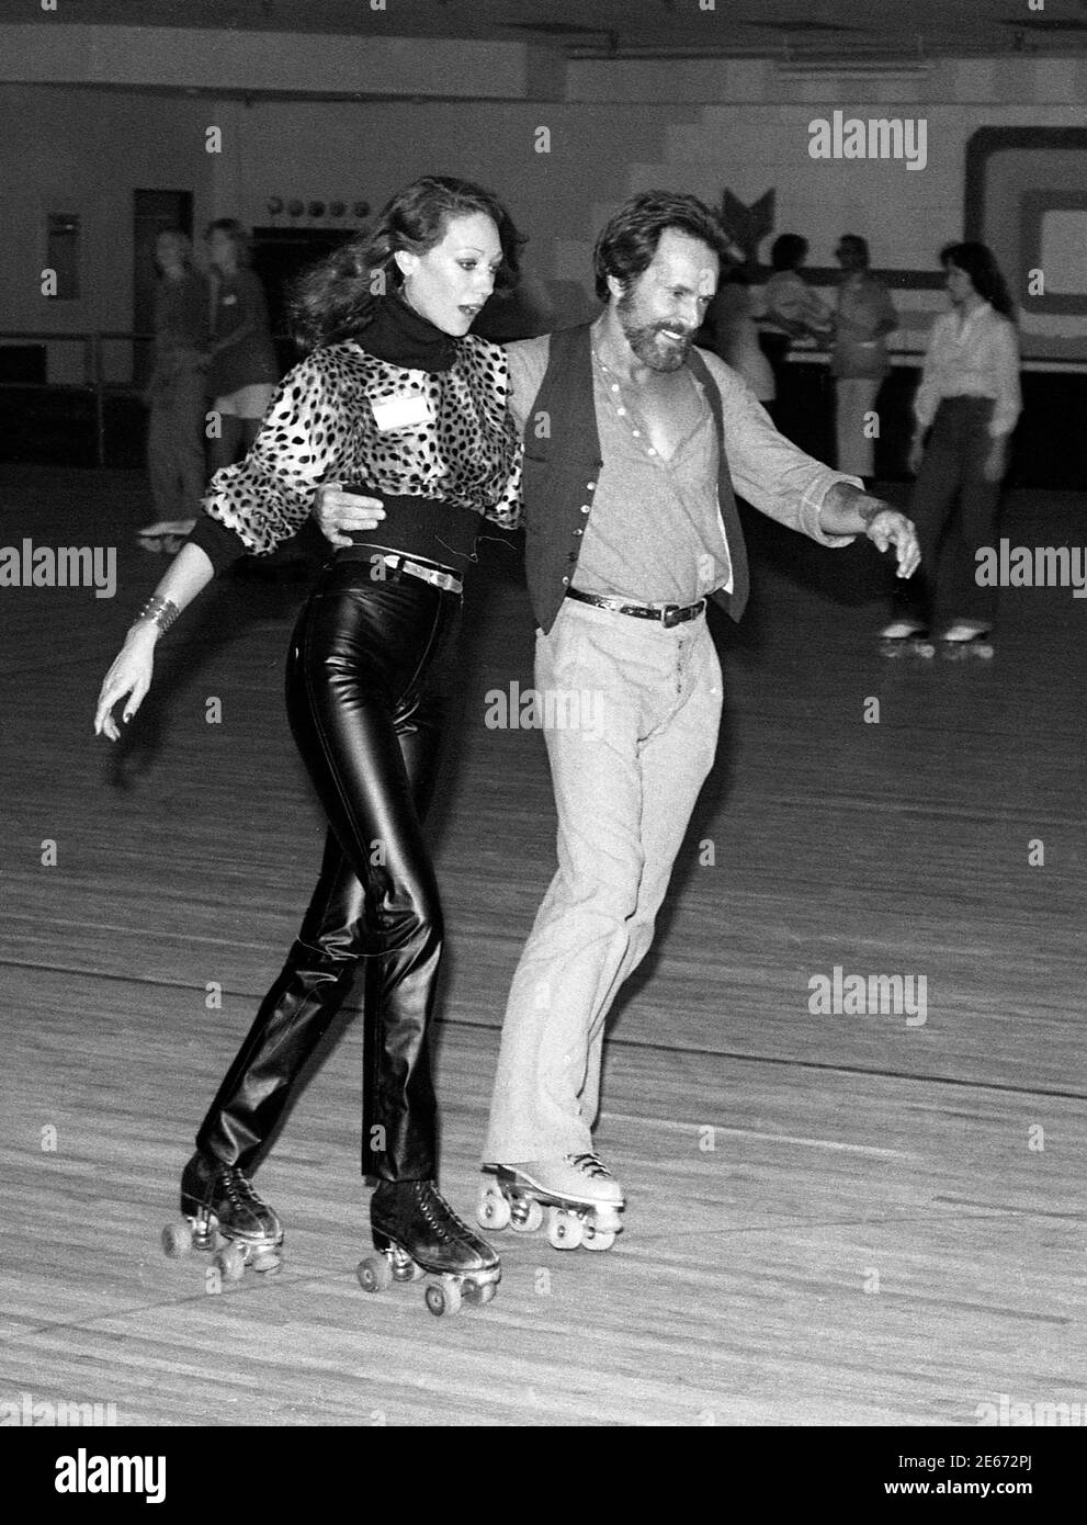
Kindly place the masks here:
[[(288, 302), (291, 329), (302, 351), (355, 339), (374, 317), (377, 299), (398, 291), (398, 250), (425, 255), (445, 238), (450, 221), (482, 212), (499, 230), (502, 265), (495, 293), (509, 293), (520, 271), (524, 239), (492, 191), (471, 180), (422, 175), (398, 191), (370, 232), (360, 233), (296, 282)], [(378, 279), (381, 276), (383, 279)]]

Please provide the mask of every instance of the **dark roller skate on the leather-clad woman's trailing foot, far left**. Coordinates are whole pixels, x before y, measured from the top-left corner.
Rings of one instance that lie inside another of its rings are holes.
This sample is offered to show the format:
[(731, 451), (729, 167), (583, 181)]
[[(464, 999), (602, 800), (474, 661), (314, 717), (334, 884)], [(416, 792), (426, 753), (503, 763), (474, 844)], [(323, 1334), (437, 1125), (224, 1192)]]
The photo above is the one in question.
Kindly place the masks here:
[(239, 1165), (194, 1154), (181, 1174), (181, 1218), (162, 1231), (171, 1260), (194, 1249), (212, 1250), (224, 1281), (241, 1281), (245, 1267), (264, 1275), (284, 1263), (284, 1229)]

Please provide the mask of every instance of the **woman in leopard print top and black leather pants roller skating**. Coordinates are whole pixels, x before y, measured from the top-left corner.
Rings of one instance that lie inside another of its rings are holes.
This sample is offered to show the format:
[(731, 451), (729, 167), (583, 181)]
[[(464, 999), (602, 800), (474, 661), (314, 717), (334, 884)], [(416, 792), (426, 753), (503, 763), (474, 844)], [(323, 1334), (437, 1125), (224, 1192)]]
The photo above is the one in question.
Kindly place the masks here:
[(436, 1185), (427, 1042), (442, 912), (421, 819), (463, 566), (483, 518), (518, 517), (505, 354), (470, 334), (495, 281), (515, 274), (517, 246), (494, 195), (427, 177), (305, 278), (296, 326), (309, 354), (279, 386), (247, 459), (212, 479), (204, 517), (128, 631), (95, 720), (116, 740), (113, 706), (125, 700), (133, 717), (177, 615), (223, 566), (273, 551), (316, 514), (329, 560), (294, 630), (287, 706), (328, 814), (325, 857), (299, 938), (197, 1133), (184, 1226), (168, 1249), (188, 1237), (209, 1247), (218, 1231), (229, 1275), (279, 1264), (279, 1217), (250, 1177), (361, 959), (363, 1173), (377, 1179), (378, 1254), (360, 1279), (378, 1290), (428, 1273), (434, 1313), (454, 1312), (462, 1293), (489, 1301), (500, 1276), (494, 1250)]

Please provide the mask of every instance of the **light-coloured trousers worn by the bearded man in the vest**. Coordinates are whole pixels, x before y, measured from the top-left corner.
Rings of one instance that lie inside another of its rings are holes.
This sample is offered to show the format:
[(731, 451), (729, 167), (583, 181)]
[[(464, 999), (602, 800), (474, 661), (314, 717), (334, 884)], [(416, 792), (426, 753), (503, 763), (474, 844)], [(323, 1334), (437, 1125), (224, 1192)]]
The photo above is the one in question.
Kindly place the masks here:
[(508, 1165), (592, 1148), (604, 1025), (653, 942), (721, 718), (704, 615), (665, 628), (567, 599), (537, 631), (535, 686), (558, 872), (502, 1029), (485, 1161)]

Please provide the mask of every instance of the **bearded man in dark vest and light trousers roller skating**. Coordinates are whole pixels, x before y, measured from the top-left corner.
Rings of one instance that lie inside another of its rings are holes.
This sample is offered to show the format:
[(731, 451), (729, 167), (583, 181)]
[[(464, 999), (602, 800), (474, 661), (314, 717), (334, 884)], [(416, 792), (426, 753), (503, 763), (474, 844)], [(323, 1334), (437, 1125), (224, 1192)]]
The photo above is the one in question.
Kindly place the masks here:
[(544, 730), (558, 872), (509, 993), (479, 1218), (524, 1229), (547, 1208), (556, 1247), (607, 1247), (622, 1225), (624, 1190), (593, 1148), (604, 1026), (713, 761), (706, 604), (738, 619), (747, 599), (732, 483), (820, 544), (864, 534), (895, 546), (899, 576), (918, 564), (907, 518), (791, 445), (692, 346), (726, 249), (694, 197), (634, 197), (596, 246), (602, 316), (508, 346), (535, 686), (592, 694), (599, 723)]

